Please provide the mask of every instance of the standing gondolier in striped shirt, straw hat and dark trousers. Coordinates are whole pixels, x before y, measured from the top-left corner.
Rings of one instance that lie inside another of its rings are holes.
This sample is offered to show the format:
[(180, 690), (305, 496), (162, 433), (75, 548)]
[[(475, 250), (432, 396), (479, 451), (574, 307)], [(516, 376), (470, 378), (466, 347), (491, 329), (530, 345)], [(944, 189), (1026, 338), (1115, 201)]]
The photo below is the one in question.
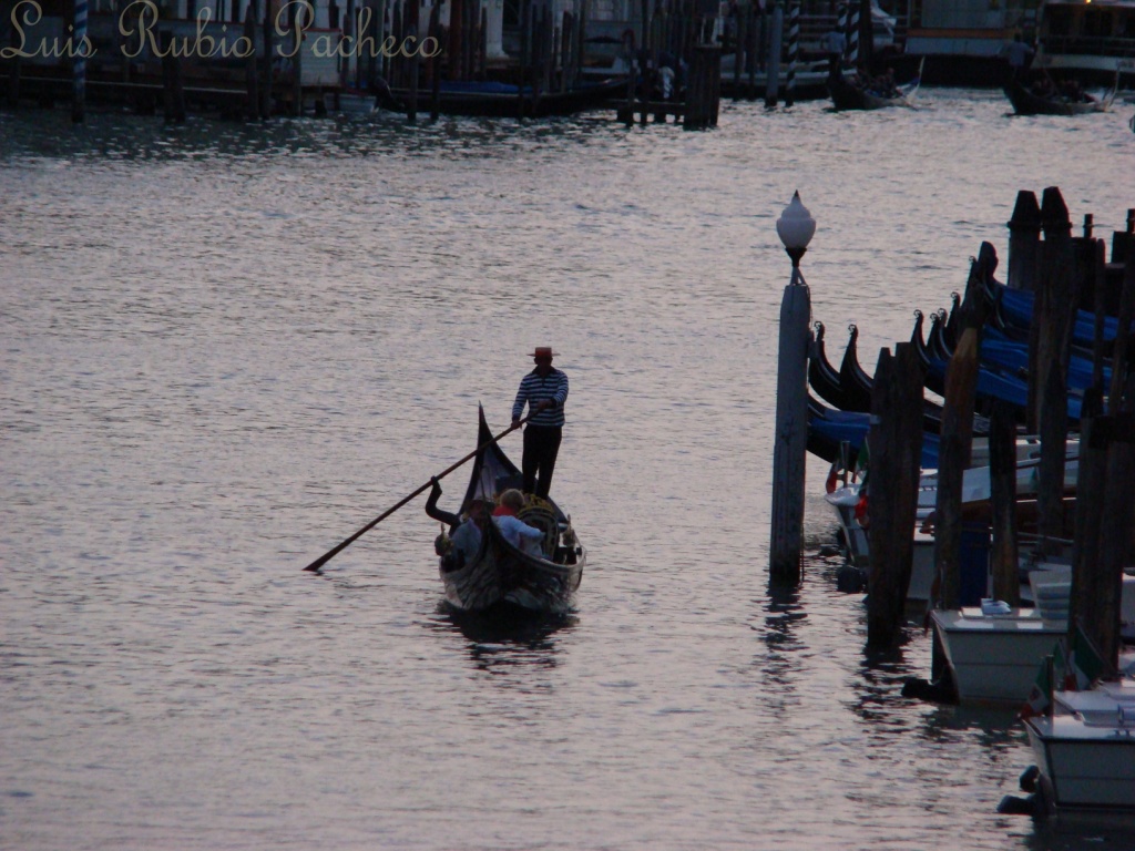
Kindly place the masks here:
[(531, 356), (536, 369), (520, 381), (512, 406), (512, 426), (520, 424), (527, 404), (530, 419), (524, 428), (524, 458), (521, 462), (523, 488), (526, 494), (547, 499), (563, 438), (568, 376), (552, 365), (555, 353), (550, 347), (540, 346)]

